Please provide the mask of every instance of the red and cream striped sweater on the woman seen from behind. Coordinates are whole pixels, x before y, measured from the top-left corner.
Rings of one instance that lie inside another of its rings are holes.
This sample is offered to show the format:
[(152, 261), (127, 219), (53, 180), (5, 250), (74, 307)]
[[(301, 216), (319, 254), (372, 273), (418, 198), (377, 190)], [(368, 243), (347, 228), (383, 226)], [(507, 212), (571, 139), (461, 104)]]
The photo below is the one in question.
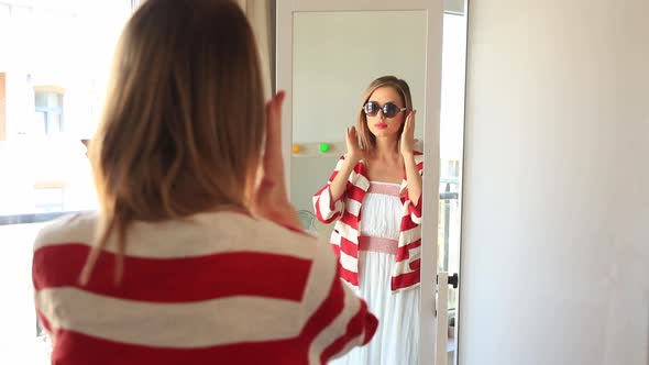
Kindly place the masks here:
[(80, 286), (96, 224), (64, 218), (35, 243), (52, 364), (324, 364), (376, 330), (329, 246), (306, 234), (235, 212), (136, 222), (121, 284), (109, 242)]

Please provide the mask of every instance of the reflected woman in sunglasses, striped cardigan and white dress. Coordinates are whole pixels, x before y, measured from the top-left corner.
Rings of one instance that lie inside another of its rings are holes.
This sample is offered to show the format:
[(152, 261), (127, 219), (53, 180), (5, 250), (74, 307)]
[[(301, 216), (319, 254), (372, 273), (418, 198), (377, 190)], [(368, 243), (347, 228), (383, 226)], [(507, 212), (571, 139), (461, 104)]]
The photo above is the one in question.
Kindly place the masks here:
[(372, 342), (341, 363), (416, 364), (418, 354), (421, 174), (406, 81), (374, 80), (363, 97), (348, 152), (314, 196), (321, 222), (336, 221), (331, 245), (342, 280), (380, 318)]

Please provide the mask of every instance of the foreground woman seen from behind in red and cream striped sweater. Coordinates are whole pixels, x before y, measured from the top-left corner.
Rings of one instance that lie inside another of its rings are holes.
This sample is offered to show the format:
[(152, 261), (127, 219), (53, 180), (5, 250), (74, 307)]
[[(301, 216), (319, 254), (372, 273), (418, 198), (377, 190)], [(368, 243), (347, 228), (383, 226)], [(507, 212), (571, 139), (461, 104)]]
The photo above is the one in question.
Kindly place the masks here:
[[(299, 232), (232, 1), (147, 0), (120, 41), (90, 144), (100, 210), (35, 243), (53, 364), (323, 364), (376, 319)], [(265, 151), (262, 151), (262, 146)]]

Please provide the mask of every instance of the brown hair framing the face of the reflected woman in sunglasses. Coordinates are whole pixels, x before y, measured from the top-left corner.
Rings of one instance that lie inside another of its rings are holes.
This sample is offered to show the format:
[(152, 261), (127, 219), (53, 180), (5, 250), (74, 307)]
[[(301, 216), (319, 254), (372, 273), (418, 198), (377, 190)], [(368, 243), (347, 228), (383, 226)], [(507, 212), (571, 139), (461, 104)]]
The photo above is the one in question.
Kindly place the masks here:
[[(372, 93), (382, 87), (391, 87), (397, 91), (397, 93), (402, 97), (404, 106), (406, 107), (406, 111), (404, 113), (405, 115), (408, 115), (408, 113), (413, 110), (413, 97), (410, 96), (410, 87), (408, 87), (408, 82), (395, 76), (382, 76), (372, 81), (363, 95), (361, 108), (359, 110), (361, 147), (369, 151), (370, 153), (374, 152), (376, 148), (376, 137), (372, 134), (372, 132), (370, 132), (370, 129), (367, 128), (367, 115), (365, 115), (365, 112), (363, 111), (363, 106), (370, 100)], [(399, 129), (399, 137), (404, 132), (404, 126), (405, 123), (402, 124), (402, 128)]]

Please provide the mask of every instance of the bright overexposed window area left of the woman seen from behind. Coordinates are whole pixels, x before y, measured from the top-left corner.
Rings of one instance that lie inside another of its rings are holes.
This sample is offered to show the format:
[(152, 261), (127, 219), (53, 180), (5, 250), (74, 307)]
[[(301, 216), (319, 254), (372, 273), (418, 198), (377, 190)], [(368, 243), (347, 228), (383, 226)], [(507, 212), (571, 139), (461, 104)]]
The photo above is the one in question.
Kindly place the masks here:
[[(9, 217), (97, 207), (86, 158), (131, 0), (0, 0), (0, 363), (47, 364), (32, 303), (43, 223)], [(20, 362), (16, 362), (20, 358)]]

